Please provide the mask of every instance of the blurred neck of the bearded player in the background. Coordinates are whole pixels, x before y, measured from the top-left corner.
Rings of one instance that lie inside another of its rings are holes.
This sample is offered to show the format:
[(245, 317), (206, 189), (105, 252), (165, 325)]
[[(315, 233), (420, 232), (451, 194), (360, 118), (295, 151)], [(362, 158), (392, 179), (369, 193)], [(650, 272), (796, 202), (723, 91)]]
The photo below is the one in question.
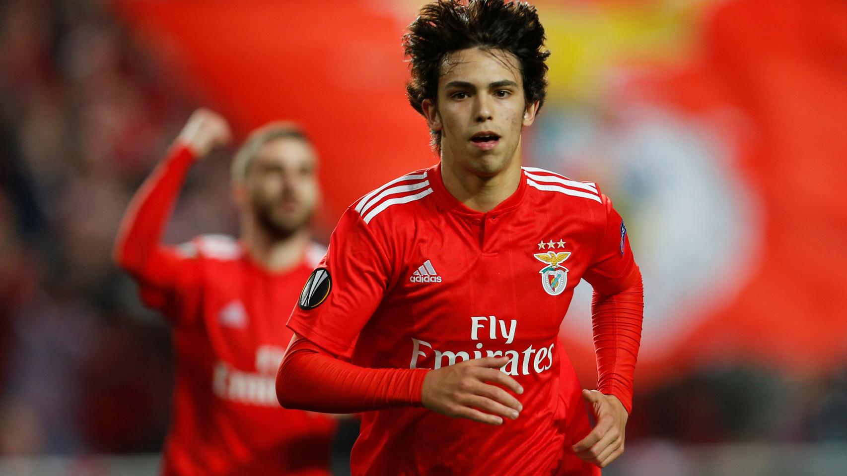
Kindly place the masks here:
[(285, 238), (274, 237), (252, 220), (245, 219), (241, 226), (241, 241), (250, 258), (270, 272), (282, 272), (300, 264), (309, 245), (307, 227), (302, 227)]

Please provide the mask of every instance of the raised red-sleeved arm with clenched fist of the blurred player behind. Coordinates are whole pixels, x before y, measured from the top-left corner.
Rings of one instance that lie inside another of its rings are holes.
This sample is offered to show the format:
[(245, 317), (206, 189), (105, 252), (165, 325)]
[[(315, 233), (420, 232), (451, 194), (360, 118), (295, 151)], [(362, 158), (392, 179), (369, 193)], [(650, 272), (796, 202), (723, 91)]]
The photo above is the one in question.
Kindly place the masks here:
[(117, 265), (148, 286), (173, 286), (179, 260), (161, 243), (165, 226), (194, 161), (229, 141), (230, 128), (224, 118), (206, 109), (191, 114), (167, 156), (141, 185), (126, 211), (114, 243)]

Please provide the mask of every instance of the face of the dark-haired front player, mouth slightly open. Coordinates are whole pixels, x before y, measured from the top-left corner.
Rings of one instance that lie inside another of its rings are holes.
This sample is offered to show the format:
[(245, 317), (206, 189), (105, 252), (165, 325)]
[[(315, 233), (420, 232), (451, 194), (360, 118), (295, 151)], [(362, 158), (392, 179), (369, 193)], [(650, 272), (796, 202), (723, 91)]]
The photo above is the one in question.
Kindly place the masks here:
[(480, 177), (520, 167), (521, 129), (533, 122), (535, 107), (527, 107), (512, 53), (478, 47), (451, 53), (441, 66), (437, 104), (429, 106), (445, 162)]

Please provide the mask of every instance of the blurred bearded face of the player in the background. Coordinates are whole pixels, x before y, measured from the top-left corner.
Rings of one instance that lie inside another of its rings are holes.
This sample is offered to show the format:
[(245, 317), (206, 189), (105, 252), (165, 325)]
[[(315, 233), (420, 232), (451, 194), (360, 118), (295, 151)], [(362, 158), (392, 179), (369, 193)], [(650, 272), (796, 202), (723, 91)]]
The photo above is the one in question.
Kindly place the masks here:
[(305, 140), (271, 140), (259, 149), (244, 182), (259, 224), (287, 237), (306, 227), (318, 202), (317, 157)]

